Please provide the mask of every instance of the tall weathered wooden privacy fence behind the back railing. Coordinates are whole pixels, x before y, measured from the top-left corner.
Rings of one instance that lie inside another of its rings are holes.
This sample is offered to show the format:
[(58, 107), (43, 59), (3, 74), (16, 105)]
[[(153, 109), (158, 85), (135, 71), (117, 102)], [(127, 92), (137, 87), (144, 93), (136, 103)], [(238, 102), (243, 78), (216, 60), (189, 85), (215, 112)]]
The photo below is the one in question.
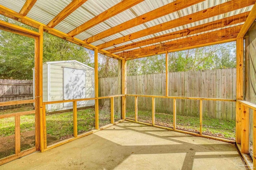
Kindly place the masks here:
[[(99, 95), (118, 94), (117, 77), (99, 79)], [(127, 94), (165, 96), (166, 74), (127, 76)], [(169, 73), (169, 96), (236, 99), (236, 68)], [(134, 98), (126, 97), (126, 109), (134, 109)], [(138, 98), (138, 109), (151, 111), (150, 98)], [(173, 101), (157, 98), (156, 113), (172, 113)], [(203, 116), (235, 120), (236, 104), (205, 101)], [(199, 117), (200, 101), (177, 99), (177, 115)]]

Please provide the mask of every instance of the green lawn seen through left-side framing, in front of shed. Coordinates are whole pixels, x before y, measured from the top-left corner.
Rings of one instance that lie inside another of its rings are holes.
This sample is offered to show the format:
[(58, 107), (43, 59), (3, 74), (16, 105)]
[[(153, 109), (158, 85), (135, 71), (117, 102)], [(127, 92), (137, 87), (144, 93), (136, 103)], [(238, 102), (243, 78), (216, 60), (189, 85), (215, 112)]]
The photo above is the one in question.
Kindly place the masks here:
[[(33, 106), (6, 109), (0, 114), (15, 113), (34, 109)], [(115, 115), (115, 120), (118, 120)], [(35, 145), (35, 117), (24, 115), (20, 117), (21, 150), (26, 150)], [(110, 108), (99, 107), (99, 126), (102, 127), (110, 123)], [(0, 119), (0, 158), (14, 154), (14, 117)], [(94, 129), (95, 109), (94, 107), (77, 110), (78, 135)], [(47, 145), (73, 136), (73, 112), (46, 114), (46, 134)]]

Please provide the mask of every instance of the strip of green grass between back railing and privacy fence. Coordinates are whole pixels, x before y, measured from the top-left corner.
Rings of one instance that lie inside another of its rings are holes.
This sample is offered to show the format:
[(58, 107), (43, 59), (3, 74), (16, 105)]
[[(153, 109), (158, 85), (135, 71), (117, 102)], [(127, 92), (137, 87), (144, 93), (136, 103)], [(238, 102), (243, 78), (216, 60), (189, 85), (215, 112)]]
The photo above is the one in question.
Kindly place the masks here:
[[(135, 118), (133, 110), (126, 110), (126, 117), (129, 119)], [(138, 120), (147, 123), (152, 122), (151, 111), (138, 111)], [(157, 125), (173, 127), (173, 115), (169, 113), (155, 113), (155, 121)], [(200, 119), (192, 116), (176, 116), (176, 127), (186, 131), (199, 132)], [(220, 120), (214, 118), (203, 117), (203, 133), (228, 139), (236, 137), (236, 122), (234, 120)]]

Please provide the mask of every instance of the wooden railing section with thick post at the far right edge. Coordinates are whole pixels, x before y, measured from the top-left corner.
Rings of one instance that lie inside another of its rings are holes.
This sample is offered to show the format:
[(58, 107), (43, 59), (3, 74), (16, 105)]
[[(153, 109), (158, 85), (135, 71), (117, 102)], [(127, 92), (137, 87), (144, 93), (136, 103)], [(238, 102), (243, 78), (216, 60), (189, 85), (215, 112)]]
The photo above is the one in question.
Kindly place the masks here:
[[(238, 146), (238, 149), (240, 150), (244, 160), (246, 161), (246, 164), (249, 166), (250, 169), (256, 169), (256, 104), (252, 104), (250, 102), (246, 102), (243, 100), (237, 101), (239, 107), (238, 113), (237, 113), (237, 125), (240, 132), (237, 133), (236, 136), (236, 144)], [(248, 159), (249, 156), (249, 150), (250, 150), (250, 111), (249, 109), (253, 110), (253, 165), (250, 164), (250, 161)]]

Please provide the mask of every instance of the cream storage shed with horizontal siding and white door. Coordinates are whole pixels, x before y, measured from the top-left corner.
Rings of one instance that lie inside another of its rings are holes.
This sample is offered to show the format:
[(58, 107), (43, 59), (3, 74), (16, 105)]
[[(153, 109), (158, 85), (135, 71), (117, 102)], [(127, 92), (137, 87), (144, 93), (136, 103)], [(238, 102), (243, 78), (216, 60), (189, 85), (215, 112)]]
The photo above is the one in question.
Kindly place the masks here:
[[(94, 98), (94, 68), (76, 60), (43, 63), (43, 102), (80, 98)], [(77, 107), (94, 104), (94, 100), (79, 101)], [(72, 109), (72, 102), (49, 104), (46, 109)]]

